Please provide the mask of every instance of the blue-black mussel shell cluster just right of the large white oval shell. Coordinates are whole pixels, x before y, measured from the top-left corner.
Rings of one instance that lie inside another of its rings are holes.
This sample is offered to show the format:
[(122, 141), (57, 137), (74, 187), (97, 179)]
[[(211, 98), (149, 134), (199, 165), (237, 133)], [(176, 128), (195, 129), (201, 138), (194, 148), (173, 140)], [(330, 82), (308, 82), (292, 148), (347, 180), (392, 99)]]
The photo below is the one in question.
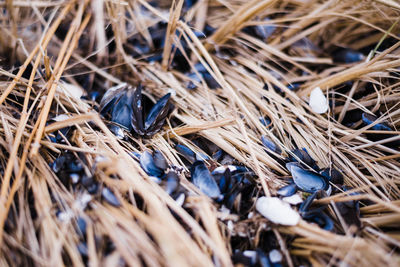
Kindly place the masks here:
[[(267, 148), (267, 153), (281, 154), (277, 145), (267, 137), (262, 138), (262, 143)], [(287, 162), (286, 169), (291, 174), (291, 179), (288, 185), (277, 190), (277, 195), (287, 198), (298, 191), (303, 192), (303, 195), (308, 195), (304, 201), (296, 204), (299, 205), (298, 210), (302, 218), (318, 224), (327, 231), (333, 231), (334, 221), (326, 212), (327, 205), (312, 207), (312, 203), (315, 199), (350, 190), (351, 188), (344, 185), (343, 174), (334, 167), (320, 169), (305, 148), (294, 149), (289, 154), (285, 162)], [(336, 204), (335, 211), (339, 212), (338, 216), (343, 218), (347, 226), (361, 227), (358, 201), (339, 202)]]

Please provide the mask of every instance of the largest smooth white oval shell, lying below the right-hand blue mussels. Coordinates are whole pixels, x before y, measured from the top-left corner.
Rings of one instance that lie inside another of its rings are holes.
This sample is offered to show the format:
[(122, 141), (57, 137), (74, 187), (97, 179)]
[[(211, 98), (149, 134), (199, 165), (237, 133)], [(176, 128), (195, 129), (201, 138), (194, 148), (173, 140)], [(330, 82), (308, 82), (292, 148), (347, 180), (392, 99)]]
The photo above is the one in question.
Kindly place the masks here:
[(276, 224), (293, 226), (300, 221), (300, 215), (277, 197), (260, 197), (256, 202), (256, 210)]

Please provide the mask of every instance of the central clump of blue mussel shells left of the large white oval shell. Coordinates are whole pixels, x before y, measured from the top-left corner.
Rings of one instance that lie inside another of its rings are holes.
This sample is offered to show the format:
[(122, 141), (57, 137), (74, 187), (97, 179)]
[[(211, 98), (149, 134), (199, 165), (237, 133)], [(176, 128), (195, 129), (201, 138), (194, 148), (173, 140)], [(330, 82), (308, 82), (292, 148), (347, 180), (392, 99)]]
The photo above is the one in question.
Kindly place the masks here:
[[(154, 152), (144, 151), (140, 154), (134, 153), (132, 157), (140, 163), (142, 169), (156, 183), (174, 199), (181, 201), (184, 195), (189, 192), (180, 187), (180, 178), (183, 167), (190, 168), (190, 181), (200, 192), (214, 199), (217, 203), (232, 209), (235, 200), (243, 192), (254, 190), (254, 173), (247, 167), (239, 165), (227, 165), (214, 168), (210, 171), (215, 161), (207, 155), (195, 155), (190, 148), (184, 145), (179, 146), (178, 151), (182, 159), (187, 160), (186, 166), (173, 166), (159, 150)], [(189, 163), (191, 162), (191, 163)], [(184, 194), (182, 196), (182, 194)], [(241, 196), (245, 197), (245, 196)], [(246, 197), (247, 198), (247, 197)]]

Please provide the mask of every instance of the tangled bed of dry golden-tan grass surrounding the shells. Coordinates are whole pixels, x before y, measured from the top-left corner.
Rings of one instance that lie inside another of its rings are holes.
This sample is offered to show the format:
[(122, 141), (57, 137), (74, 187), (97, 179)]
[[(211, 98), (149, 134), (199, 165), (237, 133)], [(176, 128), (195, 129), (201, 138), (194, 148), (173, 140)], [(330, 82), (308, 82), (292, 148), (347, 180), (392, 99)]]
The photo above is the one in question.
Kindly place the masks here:
[[(278, 249), (288, 266), (398, 266), (400, 153), (390, 144), (400, 139), (398, 2), (189, 2), (0, 1), (0, 265), (232, 266), (236, 251), (259, 248)], [(168, 23), (161, 58), (135, 54), (132, 38), (155, 47), (150, 28), (159, 23)], [(195, 33), (206, 25), (215, 30)], [(244, 30), (256, 25), (273, 32), (260, 39)], [(343, 48), (365, 58), (337, 62)], [(173, 64), (176, 53), (189, 70)], [(187, 88), (197, 62), (217, 89), (204, 79)], [(101, 97), (91, 96), (123, 82), (143, 84), (149, 101), (173, 92), (175, 110), (152, 138), (119, 140), (99, 115)], [(324, 114), (308, 105), (316, 87), (330, 103)], [(357, 111), (378, 115), (393, 130), (361, 124)], [(68, 118), (52, 120), (60, 114)], [(54, 142), (57, 133), (61, 141)], [(389, 137), (372, 141), (371, 134)], [(306, 148), (321, 168), (342, 171), (353, 189), (316, 201), (328, 205), (334, 231), (304, 220), (275, 225), (255, 211), (257, 197), (275, 196), (290, 175), (266, 153), (262, 135), (282, 159)], [(254, 171), (254, 190), (241, 196), (246, 205), (239, 198), (228, 214), (190, 182), (175, 145), (208, 153), (196, 140)], [(131, 156), (146, 149), (182, 168), (183, 206)], [(120, 207), (60, 179), (51, 164), (66, 151)], [(350, 200), (360, 203), (360, 228), (335, 212), (336, 203)], [(82, 220), (84, 236), (76, 230)]]

